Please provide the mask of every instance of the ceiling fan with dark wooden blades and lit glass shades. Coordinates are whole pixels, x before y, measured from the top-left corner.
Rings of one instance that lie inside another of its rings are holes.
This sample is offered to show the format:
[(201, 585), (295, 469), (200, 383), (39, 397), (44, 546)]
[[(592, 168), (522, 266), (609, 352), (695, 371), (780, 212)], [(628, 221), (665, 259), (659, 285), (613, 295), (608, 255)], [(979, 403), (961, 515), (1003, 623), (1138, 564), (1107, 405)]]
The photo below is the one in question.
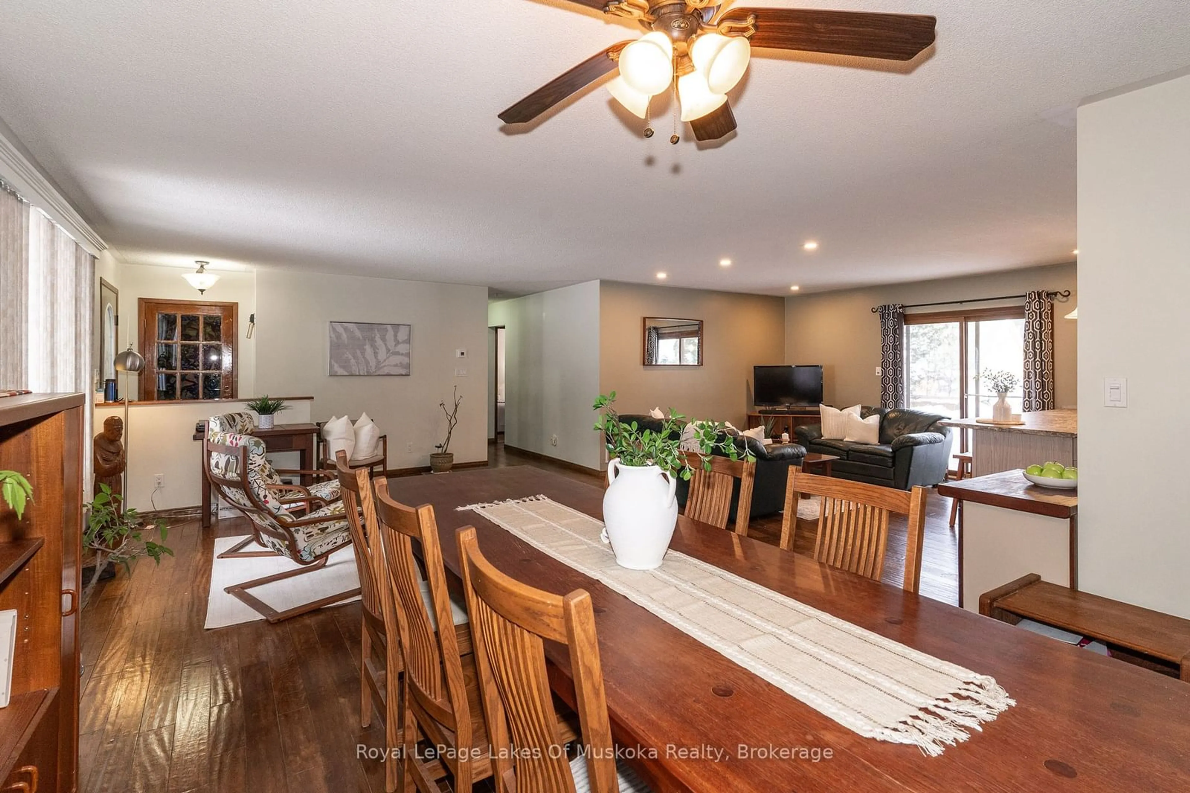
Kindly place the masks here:
[(545, 83), (500, 113), (506, 124), (531, 121), (619, 69), (607, 88), (630, 112), (646, 118), (650, 100), (676, 80), (681, 119), (690, 123), (696, 139), (715, 141), (735, 129), (727, 92), (747, 70), (753, 46), (909, 61), (933, 44), (937, 21), (920, 14), (816, 8), (724, 10), (718, 0), (571, 1), (635, 20), (649, 32)]

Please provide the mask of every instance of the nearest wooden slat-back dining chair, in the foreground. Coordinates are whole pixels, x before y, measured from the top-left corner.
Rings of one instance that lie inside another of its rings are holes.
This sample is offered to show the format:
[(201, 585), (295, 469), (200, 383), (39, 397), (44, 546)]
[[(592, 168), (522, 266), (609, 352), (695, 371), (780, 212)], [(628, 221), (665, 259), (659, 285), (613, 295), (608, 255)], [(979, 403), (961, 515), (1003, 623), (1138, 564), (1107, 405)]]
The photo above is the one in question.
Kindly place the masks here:
[[(459, 529), (457, 537), (499, 793), (647, 791), (628, 766), (615, 762), (590, 594), (534, 589), (483, 557), (474, 527)], [(543, 641), (570, 651), (584, 751), (569, 761)]]

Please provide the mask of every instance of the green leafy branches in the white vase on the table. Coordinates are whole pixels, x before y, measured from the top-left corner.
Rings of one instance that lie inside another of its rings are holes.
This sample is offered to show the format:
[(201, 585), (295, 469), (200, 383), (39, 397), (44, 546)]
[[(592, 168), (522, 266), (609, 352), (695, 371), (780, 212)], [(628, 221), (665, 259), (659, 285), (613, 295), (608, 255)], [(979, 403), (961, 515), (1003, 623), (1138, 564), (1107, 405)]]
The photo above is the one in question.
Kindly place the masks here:
[[(619, 457), (625, 466), (657, 466), (662, 470), (690, 479), (694, 470), (690, 468), (685, 455), (682, 452), (682, 429), (685, 426), (685, 417), (669, 412), (662, 419), (660, 430), (640, 429), (637, 422), (625, 423), (620, 420), (620, 414), (615, 411), (615, 392), (600, 394), (591, 406), (591, 410), (600, 411), (600, 417), (595, 422), (595, 429), (603, 433), (607, 439), (607, 450), (613, 457)], [(722, 451), (732, 460), (740, 458), (740, 450), (735, 442), (724, 435), (722, 424), (715, 422), (691, 422), (695, 427), (695, 438), (699, 442), (699, 456), (702, 458), (703, 468), (710, 470), (710, 455), (714, 451)], [(750, 451), (745, 451), (744, 458), (749, 462), (754, 457)]]

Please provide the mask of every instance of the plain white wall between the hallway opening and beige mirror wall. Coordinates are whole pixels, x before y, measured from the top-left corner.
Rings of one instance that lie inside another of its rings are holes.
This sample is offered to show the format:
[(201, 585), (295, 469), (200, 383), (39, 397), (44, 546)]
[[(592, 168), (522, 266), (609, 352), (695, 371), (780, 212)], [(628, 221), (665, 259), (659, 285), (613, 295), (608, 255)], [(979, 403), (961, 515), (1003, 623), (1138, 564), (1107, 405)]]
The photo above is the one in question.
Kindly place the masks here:
[(505, 443), (597, 469), (599, 281), (494, 302), (488, 324), (507, 329)]

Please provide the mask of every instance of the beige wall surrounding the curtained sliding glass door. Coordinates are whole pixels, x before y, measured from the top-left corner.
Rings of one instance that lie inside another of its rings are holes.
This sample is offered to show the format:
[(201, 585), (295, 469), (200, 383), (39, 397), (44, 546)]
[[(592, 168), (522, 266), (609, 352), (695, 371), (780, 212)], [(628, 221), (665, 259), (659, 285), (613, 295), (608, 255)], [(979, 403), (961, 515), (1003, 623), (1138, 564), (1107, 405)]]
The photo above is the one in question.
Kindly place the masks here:
[[(962, 279), (807, 294), (785, 300), (785, 362), (821, 363), (823, 399), (833, 405), (878, 405), (881, 324), (872, 306), (971, 300), (1023, 294), (1029, 289), (1070, 289), (1070, 302), (1054, 310), (1054, 401), (1075, 407), (1078, 401), (1077, 323), (1063, 319), (1078, 305), (1076, 266), (1059, 264)], [(1010, 301), (1020, 305), (1021, 301)], [(1009, 304), (978, 304), (991, 307)], [(946, 311), (938, 306), (910, 311)]]

